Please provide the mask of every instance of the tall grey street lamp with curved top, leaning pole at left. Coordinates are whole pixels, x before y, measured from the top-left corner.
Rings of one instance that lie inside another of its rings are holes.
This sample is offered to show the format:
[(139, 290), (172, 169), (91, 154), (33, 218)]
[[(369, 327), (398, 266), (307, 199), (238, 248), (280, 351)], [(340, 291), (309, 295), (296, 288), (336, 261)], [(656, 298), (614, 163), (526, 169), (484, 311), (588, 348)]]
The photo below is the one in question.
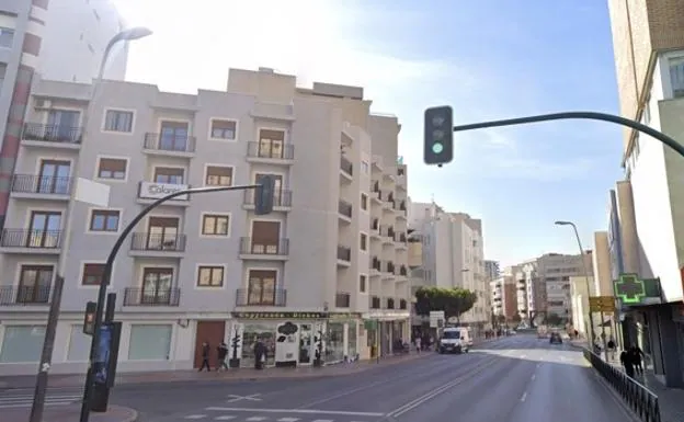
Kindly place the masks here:
[[(88, 130), (88, 122), (90, 118), (90, 114), (92, 112), (93, 102), (96, 98), (98, 87), (104, 76), (104, 68), (111, 55), (112, 47), (122, 41), (139, 39), (139, 38), (150, 35), (151, 33), (152, 32), (146, 27), (132, 27), (129, 30), (122, 31), (118, 34), (114, 35), (112, 39), (110, 39), (110, 42), (107, 43), (102, 54), (102, 59), (100, 60), (100, 68), (98, 70), (98, 77), (91, 90), (88, 107), (86, 110), (86, 114), (83, 115), (83, 119), (81, 123), (81, 127), (83, 127), (83, 132), (79, 134), (81, 137), (81, 141), (82, 139), (86, 138), (86, 134)], [(73, 169), (78, 169), (78, 157), (76, 161), (73, 162)], [(30, 417), (31, 422), (41, 421), (43, 419), (43, 410), (45, 408), (45, 392), (47, 389), (48, 372), (49, 372), (52, 361), (53, 361), (53, 349), (55, 345), (57, 321), (59, 319), (59, 308), (61, 306), (61, 292), (62, 292), (62, 287), (65, 283), (67, 259), (69, 256), (69, 246), (71, 241), (71, 226), (73, 221), (75, 202), (76, 202), (76, 186), (70, 184), (69, 202), (67, 203), (67, 209), (66, 209), (67, 221), (65, 225), (65, 230), (62, 230), (64, 238), (61, 239), (61, 244), (60, 244), (61, 254), (59, 256), (59, 262), (57, 264), (57, 277), (55, 280), (55, 288), (53, 289), (52, 305), (50, 305), (50, 309), (49, 309), (49, 313), (47, 318), (47, 324), (45, 327), (45, 340), (43, 342), (43, 351), (41, 353), (41, 365), (38, 367), (38, 374), (36, 376), (36, 385), (35, 385), (35, 390), (34, 390), (33, 403), (31, 408), (31, 417)], [(106, 288), (105, 288), (105, 293), (106, 293)], [(104, 298), (102, 303), (100, 304), (100, 308), (103, 305), (104, 305)], [(102, 311), (100, 310), (100, 313), (98, 315), (102, 315)], [(95, 321), (95, 328), (99, 328), (98, 321)], [(95, 331), (94, 335), (98, 335), (96, 332), (98, 331)], [(94, 349), (94, 344), (96, 344), (96, 338), (93, 337), (93, 346), (91, 349)], [(91, 351), (91, 354), (92, 354), (92, 351)], [(92, 361), (92, 356), (91, 356), (91, 361)], [(83, 407), (87, 407), (87, 406), (88, 406), (87, 403), (83, 403)], [(88, 415), (86, 415), (86, 419), (83, 419), (83, 414), (81, 411), (81, 421), (87, 421), (87, 420), (88, 420)]]

